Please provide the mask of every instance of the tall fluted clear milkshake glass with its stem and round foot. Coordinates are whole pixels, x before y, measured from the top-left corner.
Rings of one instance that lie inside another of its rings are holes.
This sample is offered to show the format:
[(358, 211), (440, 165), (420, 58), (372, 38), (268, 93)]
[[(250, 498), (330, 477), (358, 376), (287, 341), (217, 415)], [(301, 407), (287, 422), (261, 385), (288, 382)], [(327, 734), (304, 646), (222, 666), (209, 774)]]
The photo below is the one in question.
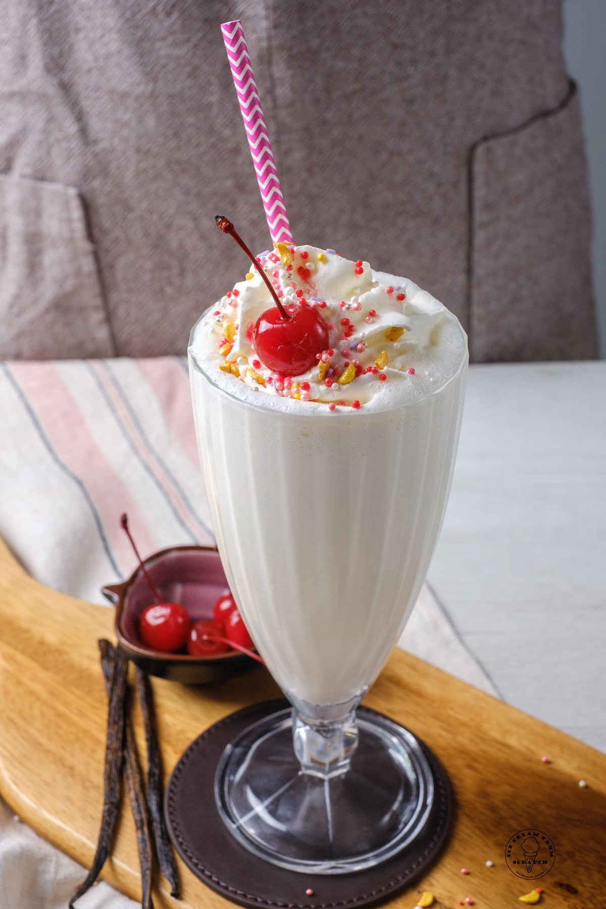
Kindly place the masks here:
[[(200, 325), (200, 323), (198, 323)], [(356, 707), (421, 590), (442, 524), (467, 351), (430, 395), (381, 412), (268, 405), (189, 348), (196, 434), (225, 574), (292, 709), (217, 768), (224, 823), (268, 862), (360, 871), (420, 834), (432, 771), (414, 736)], [(239, 386), (239, 387), (238, 387)], [(286, 409), (288, 407), (288, 409)]]

